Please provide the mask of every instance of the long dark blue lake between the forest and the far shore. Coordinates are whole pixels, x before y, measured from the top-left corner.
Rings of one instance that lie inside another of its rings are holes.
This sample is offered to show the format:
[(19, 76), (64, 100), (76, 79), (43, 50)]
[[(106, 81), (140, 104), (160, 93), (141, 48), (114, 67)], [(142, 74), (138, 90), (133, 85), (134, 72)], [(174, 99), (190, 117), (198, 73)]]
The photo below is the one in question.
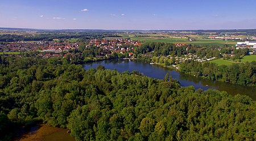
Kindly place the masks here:
[(243, 86), (236, 84), (229, 84), (226, 82), (212, 81), (204, 79), (201, 77), (194, 77), (188, 74), (177, 72), (176, 70), (171, 70), (168, 68), (161, 67), (159, 65), (145, 63), (141, 60), (105, 60), (97, 61), (93, 63), (84, 64), (84, 68), (87, 70), (89, 68), (97, 68), (98, 65), (103, 65), (106, 69), (116, 69), (118, 72), (125, 72), (129, 70), (138, 70), (140, 73), (143, 73), (145, 76), (163, 79), (166, 73), (176, 78), (181, 86), (194, 86), (195, 89), (217, 89), (220, 91), (226, 91), (232, 96), (236, 94), (242, 94), (253, 98), (256, 100), (256, 87)]

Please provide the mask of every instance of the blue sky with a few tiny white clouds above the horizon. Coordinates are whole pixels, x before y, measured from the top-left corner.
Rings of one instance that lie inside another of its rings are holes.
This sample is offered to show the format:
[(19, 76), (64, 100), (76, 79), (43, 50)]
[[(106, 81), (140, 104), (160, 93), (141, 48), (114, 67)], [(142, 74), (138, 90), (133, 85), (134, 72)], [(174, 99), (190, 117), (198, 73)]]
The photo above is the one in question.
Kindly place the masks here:
[(1, 0), (0, 27), (197, 30), (256, 28), (255, 0)]

